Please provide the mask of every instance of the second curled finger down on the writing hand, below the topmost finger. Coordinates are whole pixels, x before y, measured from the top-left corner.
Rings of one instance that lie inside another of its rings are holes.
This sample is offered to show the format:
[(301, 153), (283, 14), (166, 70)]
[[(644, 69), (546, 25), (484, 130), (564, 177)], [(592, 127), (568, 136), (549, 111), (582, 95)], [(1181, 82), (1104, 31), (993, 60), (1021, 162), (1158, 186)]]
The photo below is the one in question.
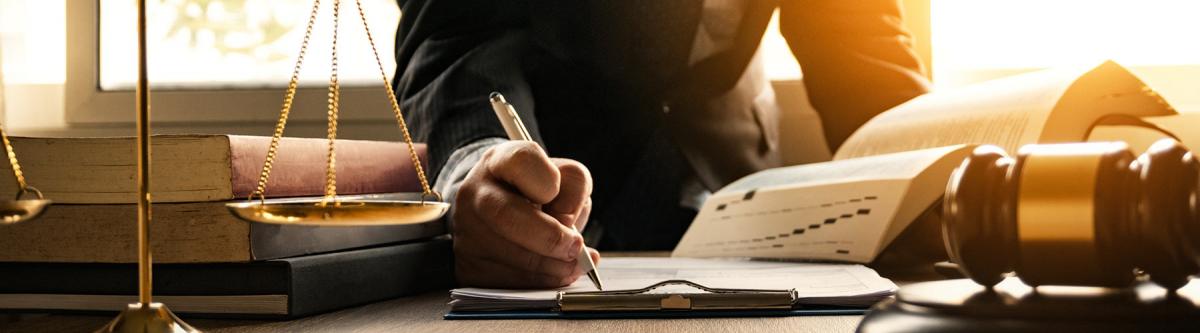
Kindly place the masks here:
[(566, 228), (499, 184), (484, 182), (474, 189), (472, 202), (481, 223), (517, 246), (564, 261), (575, 260), (583, 247), (583, 236)]

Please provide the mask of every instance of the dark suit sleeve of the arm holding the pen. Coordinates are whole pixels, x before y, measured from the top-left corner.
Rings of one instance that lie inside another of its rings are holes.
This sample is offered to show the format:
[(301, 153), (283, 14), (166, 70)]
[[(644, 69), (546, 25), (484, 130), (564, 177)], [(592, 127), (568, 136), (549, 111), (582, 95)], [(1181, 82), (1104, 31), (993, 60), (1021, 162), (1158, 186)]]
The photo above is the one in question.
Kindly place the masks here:
[(539, 138), (521, 69), (528, 32), (514, 8), (518, 6), (482, 0), (401, 0), (400, 5), (392, 89), (413, 139), (428, 145), (432, 178), (458, 147), (505, 138), (487, 102), (492, 91), (504, 93)]

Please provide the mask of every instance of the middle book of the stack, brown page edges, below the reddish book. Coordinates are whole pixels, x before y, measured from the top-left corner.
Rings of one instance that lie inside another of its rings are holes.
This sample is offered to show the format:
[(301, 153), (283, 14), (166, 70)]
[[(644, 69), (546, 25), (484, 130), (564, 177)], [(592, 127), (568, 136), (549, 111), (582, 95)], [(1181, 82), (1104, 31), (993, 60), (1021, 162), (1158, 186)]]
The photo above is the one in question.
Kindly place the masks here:
[[(426, 240), (439, 222), (320, 228), (246, 223), (223, 202), (155, 205), (156, 264), (244, 262)], [(136, 262), (133, 205), (55, 205), (37, 223), (0, 230), (0, 262)]]

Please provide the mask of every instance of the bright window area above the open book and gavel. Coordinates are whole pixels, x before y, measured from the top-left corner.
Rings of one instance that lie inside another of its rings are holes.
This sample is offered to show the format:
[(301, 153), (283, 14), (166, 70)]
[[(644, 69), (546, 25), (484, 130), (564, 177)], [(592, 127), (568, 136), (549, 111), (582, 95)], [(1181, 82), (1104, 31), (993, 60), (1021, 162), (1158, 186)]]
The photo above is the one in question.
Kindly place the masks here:
[(931, 0), (934, 83), (1114, 59), (1200, 111), (1196, 13), (1200, 2), (1180, 0)]

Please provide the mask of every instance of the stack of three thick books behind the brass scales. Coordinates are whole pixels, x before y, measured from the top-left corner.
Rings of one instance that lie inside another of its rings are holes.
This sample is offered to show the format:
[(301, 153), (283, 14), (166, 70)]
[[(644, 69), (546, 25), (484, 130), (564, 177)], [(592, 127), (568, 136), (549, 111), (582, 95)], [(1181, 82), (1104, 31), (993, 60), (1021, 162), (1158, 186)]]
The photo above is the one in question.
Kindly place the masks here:
[[(29, 183), (54, 205), (38, 219), (0, 228), (0, 309), (120, 310), (136, 302), (134, 139), (12, 143)], [(442, 222), (323, 228), (232, 216), (224, 205), (248, 200), (270, 138), (156, 135), (151, 143), (154, 290), (179, 313), (302, 316), (454, 281)], [(266, 198), (322, 195), (326, 144), (284, 138)], [(424, 156), (422, 145), (416, 150)], [(337, 152), (338, 194), (420, 192), (402, 143), (338, 140)], [(0, 180), (0, 193), (16, 193), (13, 180)]]

